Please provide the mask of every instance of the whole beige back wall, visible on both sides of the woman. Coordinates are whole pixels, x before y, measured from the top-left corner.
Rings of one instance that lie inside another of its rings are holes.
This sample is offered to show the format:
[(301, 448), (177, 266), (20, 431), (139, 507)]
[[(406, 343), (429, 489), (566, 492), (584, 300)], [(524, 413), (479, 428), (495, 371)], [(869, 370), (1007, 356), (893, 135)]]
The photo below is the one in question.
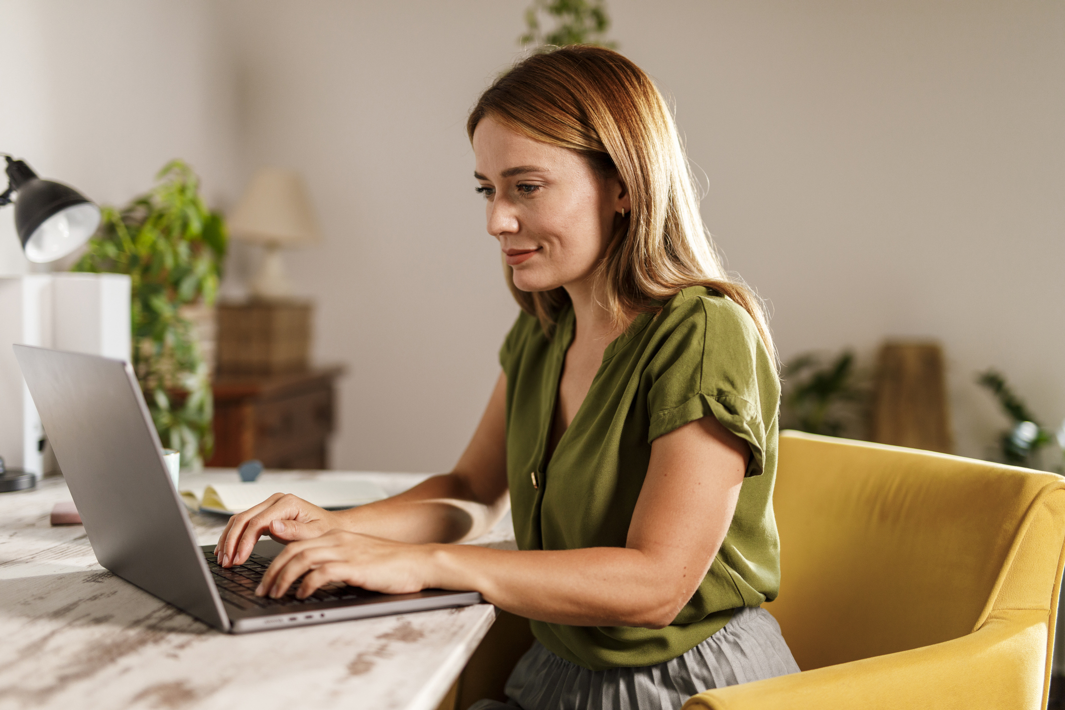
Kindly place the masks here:
[[(449, 466), (514, 308), (471, 195), (465, 112), (524, 3), (231, 0), (242, 168), (308, 177), (327, 242), (289, 264), (348, 363), (334, 465)], [(677, 105), (730, 267), (782, 356), (939, 339), (957, 448), (1004, 425), (1000, 367), (1065, 416), (1065, 5), (638, 0), (612, 36)], [(235, 269), (249, 264), (237, 263)]]

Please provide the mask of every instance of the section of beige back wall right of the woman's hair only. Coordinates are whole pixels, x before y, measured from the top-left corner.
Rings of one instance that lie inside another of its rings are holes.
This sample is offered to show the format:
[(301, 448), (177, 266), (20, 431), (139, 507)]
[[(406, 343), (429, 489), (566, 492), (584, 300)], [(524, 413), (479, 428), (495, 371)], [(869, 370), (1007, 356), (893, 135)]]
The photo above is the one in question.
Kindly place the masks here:
[(676, 98), (706, 222), (772, 301), (785, 360), (935, 337), (960, 453), (1006, 424), (973, 384), (988, 366), (1062, 422), (1065, 4), (613, 6)]

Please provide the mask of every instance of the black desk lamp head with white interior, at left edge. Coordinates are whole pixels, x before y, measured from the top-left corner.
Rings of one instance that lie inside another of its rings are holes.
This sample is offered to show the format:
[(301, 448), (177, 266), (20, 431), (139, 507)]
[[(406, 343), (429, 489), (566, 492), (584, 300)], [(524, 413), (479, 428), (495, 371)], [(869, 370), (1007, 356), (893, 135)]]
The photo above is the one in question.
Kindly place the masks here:
[(0, 207), (15, 202), (15, 229), (27, 259), (37, 264), (62, 259), (93, 236), (100, 224), (98, 207), (72, 187), (42, 180), (26, 162), (0, 155), (7, 160), (9, 180)]

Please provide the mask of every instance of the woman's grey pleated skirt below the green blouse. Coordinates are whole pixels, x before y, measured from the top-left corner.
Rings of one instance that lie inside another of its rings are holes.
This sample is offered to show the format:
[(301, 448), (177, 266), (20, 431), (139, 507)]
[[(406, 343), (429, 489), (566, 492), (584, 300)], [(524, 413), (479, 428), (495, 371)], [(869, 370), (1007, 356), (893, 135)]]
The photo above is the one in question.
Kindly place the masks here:
[(676, 710), (704, 690), (798, 672), (776, 620), (747, 607), (703, 643), (657, 665), (589, 671), (538, 641), (507, 680), (509, 700), (478, 700), (470, 710)]

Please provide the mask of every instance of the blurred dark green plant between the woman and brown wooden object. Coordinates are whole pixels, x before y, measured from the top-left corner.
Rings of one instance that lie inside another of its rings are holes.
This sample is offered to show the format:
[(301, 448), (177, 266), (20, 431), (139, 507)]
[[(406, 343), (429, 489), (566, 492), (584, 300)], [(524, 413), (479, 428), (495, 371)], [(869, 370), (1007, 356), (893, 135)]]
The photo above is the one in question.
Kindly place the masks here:
[(870, 399), (869, 378), (854, 364), (854, 352), (831, 357), (801, 354), (784, 367), (782, 425), (814, 434), (863, 435)]

